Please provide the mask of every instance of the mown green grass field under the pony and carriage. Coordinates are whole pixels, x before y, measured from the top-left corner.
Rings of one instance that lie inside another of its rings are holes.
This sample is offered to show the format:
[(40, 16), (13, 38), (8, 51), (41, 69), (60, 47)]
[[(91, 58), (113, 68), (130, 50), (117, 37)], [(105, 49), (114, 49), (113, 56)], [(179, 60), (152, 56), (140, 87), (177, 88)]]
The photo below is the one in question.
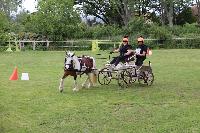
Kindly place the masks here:
[[(88, 51), (77, 52), (101, 56)], [(200, 50), (154, 50), (151, 87), (58, 86), (64, 52), (0, 53), (0, 133), (200, 132)], [(98, 68), (106, 60), (97, 59)], [(9, 81), (14, 67), (30, 81)], [(86, 77), (78, 78), (81, 85)]]

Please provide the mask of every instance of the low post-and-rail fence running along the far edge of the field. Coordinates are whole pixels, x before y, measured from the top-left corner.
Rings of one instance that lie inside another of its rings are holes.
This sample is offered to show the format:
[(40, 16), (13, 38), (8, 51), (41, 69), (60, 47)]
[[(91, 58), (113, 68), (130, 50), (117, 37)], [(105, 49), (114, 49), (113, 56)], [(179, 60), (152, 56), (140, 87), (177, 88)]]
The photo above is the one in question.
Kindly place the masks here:
[[(193, 42), (192, 42), (193, 41)], [(145, 39), (145, 42), (150, 47), (158, 48), (200, 48), (200, 38), (173, 38), (171, 40), (158, 40), (158, 39)], [(64, 50), (65, 48), (69, 50), (105, 50), (110, 47), (115, 48), (121, 42), (112, 40), (68, 40), (68, 41), (49, 41), (49, 40), (11, 40), (7, 41), (9, 43), (9, 49), (11, 49), (10, 44), (15, 44), (19, 50), (22, 50), (28, 46), (32, 50)], [(28, 43), (28, 44), (27, 44)], [(136, 42), (134, 42), (136, 43)], [(132, 42), (130, 41), (130, 44)], [(5, 46), (0, 46), (2, 49)], [(13, 46), (12, 46), (13, 47)]]

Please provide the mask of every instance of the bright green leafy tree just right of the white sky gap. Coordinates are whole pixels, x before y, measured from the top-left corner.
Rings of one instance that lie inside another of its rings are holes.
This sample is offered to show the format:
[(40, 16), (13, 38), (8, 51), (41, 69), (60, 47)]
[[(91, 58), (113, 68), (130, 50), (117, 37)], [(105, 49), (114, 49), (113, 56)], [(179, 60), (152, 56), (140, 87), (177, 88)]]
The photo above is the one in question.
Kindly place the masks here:
[(79, 31), (80, 17), (73, 9), (72, 0), (39, 1), (38, 11), (27, 21), (29, 30), (52, 40), (72, 38)]

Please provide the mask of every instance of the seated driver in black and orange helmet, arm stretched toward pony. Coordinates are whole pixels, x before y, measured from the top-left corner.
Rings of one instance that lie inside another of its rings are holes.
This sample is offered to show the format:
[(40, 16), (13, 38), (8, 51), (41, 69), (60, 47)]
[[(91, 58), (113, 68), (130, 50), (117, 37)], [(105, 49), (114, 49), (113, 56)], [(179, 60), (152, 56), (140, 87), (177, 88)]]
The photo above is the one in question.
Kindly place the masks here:
[(123, 38), (122, 45), (113, 52), (120, 52), (120, 55), (118, 57), (115, 57), (110, 64), (114, 64), (117, 66), (120, 61), (125, 61), (128, 57), (132, 56), (133, 50), (132, 46), (128, 44), (128, 38)]

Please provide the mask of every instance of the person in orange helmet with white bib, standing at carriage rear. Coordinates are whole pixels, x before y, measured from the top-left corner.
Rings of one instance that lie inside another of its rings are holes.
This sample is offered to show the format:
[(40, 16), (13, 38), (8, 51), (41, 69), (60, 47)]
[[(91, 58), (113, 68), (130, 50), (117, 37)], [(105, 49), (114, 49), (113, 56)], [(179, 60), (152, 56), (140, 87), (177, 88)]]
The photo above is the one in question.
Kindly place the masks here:
[(142, 66), (143, 61), (146, 59), (147, 46), (144, 44), (144, 39), (142, 37), (138, 38), (138, 47), (135, 50), (136, 53), (136, 66)]

